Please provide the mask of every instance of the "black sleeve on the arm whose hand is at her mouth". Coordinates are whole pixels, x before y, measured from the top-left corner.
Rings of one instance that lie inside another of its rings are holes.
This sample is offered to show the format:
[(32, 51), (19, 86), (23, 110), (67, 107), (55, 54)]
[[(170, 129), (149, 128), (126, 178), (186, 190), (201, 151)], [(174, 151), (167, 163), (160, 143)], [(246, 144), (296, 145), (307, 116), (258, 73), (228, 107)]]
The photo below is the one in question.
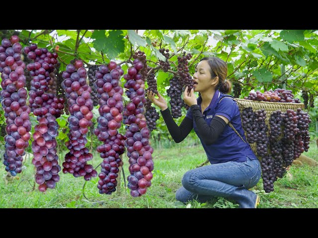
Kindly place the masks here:
[(213, 144), (219, 138), (219, 135), (223, 132), (227, 123), (220, 117), (214, 117), (211, 124), (208, 125), (202, 116), (199, 105), (192, 105), (191, 111), (193, 120), (197, 125), (198, 133), (200, 134), (203, 142), (206, 145)]

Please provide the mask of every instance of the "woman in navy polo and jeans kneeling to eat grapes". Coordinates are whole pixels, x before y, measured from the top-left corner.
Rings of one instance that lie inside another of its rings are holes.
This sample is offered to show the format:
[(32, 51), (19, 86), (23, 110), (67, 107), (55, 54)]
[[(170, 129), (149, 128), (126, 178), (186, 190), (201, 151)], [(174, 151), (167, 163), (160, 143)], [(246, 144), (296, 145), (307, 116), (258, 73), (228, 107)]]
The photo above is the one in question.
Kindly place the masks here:
[[(159, 98), (155, 98), (153, 92), (147, 92), (148, 98), (161, 109), (173, 140), (181, 142), (194, 128), (211, 163), (184, 174), (176, 199), (206, 202), (220, 196), (235, 200), (239, 208), (256, 208), (259, 196), (248, 188), (259, 181), (261, 167), (245, 142), (239, 107), (227, 95), (231, 92), (231, 82), (226, 79), (227, 63), (217, 57), (206, 57), (195, 71), (194, 90), (188, 93), (186, 87), (184, 91), (183, 100), (190, 108), (180, 126), (174, 122), (164, 98), (159, 93)], [(197, 99), (194, 91), (201, 94)]]

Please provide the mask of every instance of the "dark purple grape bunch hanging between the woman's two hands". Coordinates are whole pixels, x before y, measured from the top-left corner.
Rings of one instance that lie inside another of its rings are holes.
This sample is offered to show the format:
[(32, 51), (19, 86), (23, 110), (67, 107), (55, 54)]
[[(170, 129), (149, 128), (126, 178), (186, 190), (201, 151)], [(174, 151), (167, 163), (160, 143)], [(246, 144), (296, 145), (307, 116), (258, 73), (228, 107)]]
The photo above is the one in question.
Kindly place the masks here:
[(171, 106), (171, 115), (173, 118), (181, 117), (181, 108), (184, 104), (181, 99), (182, 85), (177, 77), (169, 79), (170, 87), (167, 89), (167, 94), (170, 97), (169, 103)]

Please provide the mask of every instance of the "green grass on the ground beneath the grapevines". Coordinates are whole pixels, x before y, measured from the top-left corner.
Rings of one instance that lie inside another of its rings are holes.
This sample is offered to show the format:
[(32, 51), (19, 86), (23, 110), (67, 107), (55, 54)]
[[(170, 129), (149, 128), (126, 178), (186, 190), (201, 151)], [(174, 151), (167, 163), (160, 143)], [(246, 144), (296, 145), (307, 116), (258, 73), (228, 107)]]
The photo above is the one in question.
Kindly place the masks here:
[[(155, 145), (153, 154), (155, 169), (152, 186), (141, 197), (134, 198), (125, 189), (121, 176), (120, 192), (111, 195), (99, 194), (96, 187), (98, 178), (86, 182), (84, 179), (74, 178), (70, 174), (60, 172), (61, 180), (55, 189), (48, 189), (45, 193), (33, 190), (34, 176), (31, 158), (27, 158), (27, 169), (19, 174), (20, 179), (13, 179), (7, 185), (0, 178), (0, 208), (236, 208), (238, 205), (224, 198), (207, 203), (196, 201), (183, 204), (175, 200), (175, 191), (181, 186), (183, 174), (205, 162), (206, 155), (201, 145), (189, 146), (189, 142), (174, 144), (171, 148)], [(311, 143), (307, 156), (318, 161), (316, 143)], [(61, 154), (61, 161), (64, 153)], [(93, 165), (101, 160), (96, 154)], [(97, 159), (99, 158), (99, 159)], [(124, 159), (124, 172), (127, 178), (128, 158)], [(2, 163), (1, 163), (2, 164)], [(61, 163), (60, 163), (61, 164)], [(97, 172), (100, 171), (100, 167)], [(290, 169), (293, 179), (287, 177), (278, 179), (274, 183), (275, 190), (265, 193), (262, 179), (253, 190), (260, 195), (259, 208), (318, 208), (318, 167), (307, 165), (293, 165)], [(4, 166), (0, 166), (0, 175), (6, 175)], [(37, 184), (35, 184), (37, 187)]]

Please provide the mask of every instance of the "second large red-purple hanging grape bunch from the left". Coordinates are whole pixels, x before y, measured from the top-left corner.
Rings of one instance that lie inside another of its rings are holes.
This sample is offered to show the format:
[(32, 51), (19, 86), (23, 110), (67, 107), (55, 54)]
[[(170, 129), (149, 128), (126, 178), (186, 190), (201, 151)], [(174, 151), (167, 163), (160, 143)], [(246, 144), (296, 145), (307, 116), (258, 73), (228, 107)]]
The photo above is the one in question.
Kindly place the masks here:
[(58, 55), (48, 52), (46, 48), (38, 48), (36, 44), (25, 47), (23, 51), (33, 60), (26, 66), (32, 77), (29, 104), (39, 122), (32, 135), (32, 163), (37, 168), (35, 181), (39, 184), (39, 190), (44, 192), (47, 188), (55, 188), (61, 171), (55, 137), (59, 128), (56, 119), (63, 113), (64, 99), (57, 98), (52, 87), (56, 85), (54, 70)]

